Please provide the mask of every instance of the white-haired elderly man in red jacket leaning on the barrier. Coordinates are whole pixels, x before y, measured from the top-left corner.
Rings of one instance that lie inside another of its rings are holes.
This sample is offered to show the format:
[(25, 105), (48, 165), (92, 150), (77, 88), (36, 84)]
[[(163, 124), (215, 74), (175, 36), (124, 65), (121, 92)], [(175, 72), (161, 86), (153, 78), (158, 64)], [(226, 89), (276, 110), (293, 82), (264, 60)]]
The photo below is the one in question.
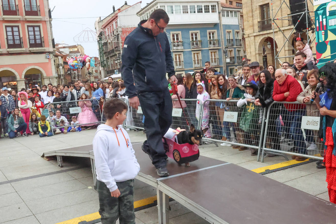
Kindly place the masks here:
[[(302, 88), (298, 81), (292, 76), (287, 75), (287, 72), (284, 69), (277, 69), (275, 78), (273, 99), (275, 101), (295, 102), (296, 97), (302, 92)], [(280, 114), (285, 127), (289, 129), (290, 134), (294, 138), (294, 145), (297, 148), (298, 153), (306, 154), (306, 143), (301, 129), (302, 116), (306, 115), (305, 105), (284, 103), (284, 108)], [(292, 159), (303, 161), (306, 158), (293, 155)]]

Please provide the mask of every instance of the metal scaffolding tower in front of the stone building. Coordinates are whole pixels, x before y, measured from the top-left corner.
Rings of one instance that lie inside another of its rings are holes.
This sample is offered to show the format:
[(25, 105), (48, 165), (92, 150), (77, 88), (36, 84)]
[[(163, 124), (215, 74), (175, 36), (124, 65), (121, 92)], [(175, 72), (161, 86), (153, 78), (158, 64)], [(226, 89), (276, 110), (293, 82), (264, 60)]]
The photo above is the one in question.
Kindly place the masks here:
[[(307, 36), (307, 44), (310, 46), (312, 43), (315, 43), (315, 16), (313, 16), (314, 20), (311, 18), (310, 16), (310, 12), (312, 13), (315, 13), (314, 11), (309, 11), (308, 10), (308, 1), (311, 3), (311, 5), (313, 5), (313, 3), (311, 2), (311, 0), (302, 0), (304, 1), (305, 3), (305, 8), (304, 8), (304, 11), (303, 12), (299, 12), (299, 13), (294, 13), (294, 14), (289, 14), (289, 15), (286, 15), (286, 16), (281, 16), (281, 17), (277, 17), (277, 14), (278, 12), (280, 11), (281, 7), (282, 6), (286, 6), (289, 11), (290, 10), (290, 7), (289, 5), (287, 4), (286, 1), (288, 0), (281, 0), (281, 5), (280, 7), (278, 8), (278, 10), (276, 11), (276, 13), (274, 13), (274, 8), (273, 8), (273, 2), (275, 1), (279, 1), (279, 0), (271, 0), (271, 11), (272, 11), (272, 30), (273, 30), (273, 46), (274, 46), (274, 60), (275, 60), (275, 68), (277, 69), (277, 61), (282, 64), (282, 61), (281, 59), (282, 58), (289, 58), (289, 57), (294, 57), (294, 55), (289, 55), (289, 56), (283, 56), (283, 57), (279, 57), (279, 54), (284, 50), (284, 47), (286, 45), (286, 43), (288, 42), (289, 45), (293, 48), (294, 52), (296, 52), (296, 49), (294, 48), (294, 46), (292, 45), (292, 43), (289, 42), (289, 39), (290, 37), (293, 35), (293, 34), (302, 34), (302, 33), (306, 33), (306, 36)], [(281, 26), (279, 26), (277, 24), (277, 22), (279, 20), (292, 20), (292, 16), (293, 15), (300, 15), (300, 18), (298, 20), (298, 22), (296, 24), (293, 24), (293, 29), (291, 30), (290, 34), (289, 35), (285, 35), (284, 32), (281, 30)], [(295, 30), (295, 28), (297, 27), (297, 25), (299, 24), (300, 20), (302, 18), (306, 18), (306, 30), (303, 31), (303, 32), (297, 32)], [(309, 22), (308, 21), (311, 21), (311, 26), (309, 26)], [(281, 46), (280, 50), (277, 52), (276, 50), (276, 41), (275, 41), (275, 30), (279, 30), (281, 32), (281, 34), (283, 35), (284, 39), (286, 39), (286, 41), (283, 43), (283, 45)]]

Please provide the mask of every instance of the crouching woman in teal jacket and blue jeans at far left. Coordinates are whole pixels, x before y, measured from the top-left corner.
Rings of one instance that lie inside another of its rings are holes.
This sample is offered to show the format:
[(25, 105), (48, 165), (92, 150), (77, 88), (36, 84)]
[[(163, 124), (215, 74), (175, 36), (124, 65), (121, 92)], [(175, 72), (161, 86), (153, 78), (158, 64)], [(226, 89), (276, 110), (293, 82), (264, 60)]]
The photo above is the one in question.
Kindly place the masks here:
[(19, 113), (19, 108), (15, 107), (14, 114), (9, 116), (8, 119), (8, 135), (9, 138), (17, 137), (19, 131), (24, 131), (22, 136), (27, 137), (26, 134), (27, 123)]

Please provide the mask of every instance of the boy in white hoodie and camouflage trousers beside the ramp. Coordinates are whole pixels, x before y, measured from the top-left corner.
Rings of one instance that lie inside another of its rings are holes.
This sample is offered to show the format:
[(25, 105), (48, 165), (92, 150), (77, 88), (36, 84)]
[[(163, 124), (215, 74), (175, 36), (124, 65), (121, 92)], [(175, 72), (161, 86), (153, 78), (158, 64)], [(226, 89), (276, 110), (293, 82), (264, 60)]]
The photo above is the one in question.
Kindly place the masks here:
[(102, 224), (135, 223), (134, 178), (140, 171), (128, 133), (122, 128), (127, 105), (113, 98), (105, 102), (106, 123), (97, 128), (93, 152)]

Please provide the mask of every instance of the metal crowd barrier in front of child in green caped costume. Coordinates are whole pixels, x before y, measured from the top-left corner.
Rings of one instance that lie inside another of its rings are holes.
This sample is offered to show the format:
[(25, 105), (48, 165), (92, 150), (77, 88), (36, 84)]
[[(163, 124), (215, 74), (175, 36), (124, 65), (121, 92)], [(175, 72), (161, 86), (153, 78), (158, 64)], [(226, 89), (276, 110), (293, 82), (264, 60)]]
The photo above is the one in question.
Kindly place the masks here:
[[(242, 149), (250, 148), (251, 152), (257, 153), (259, 161), (262, 145), (260, 136), (264, 130), (263, 109), (254, 105), (253, 100), (241, 107), (237, 106), (237, 102), (238, 100), (219, 99), (208, 99), (203, 102), (201, 117), (205, 116), (205, 113), (208, 114), (208, 126), (211, 132), (211, 138), (204, 137), (204, 140), (238, 145), (244, 147)], [(199, 128), (201, 129), (201, 126)]]

